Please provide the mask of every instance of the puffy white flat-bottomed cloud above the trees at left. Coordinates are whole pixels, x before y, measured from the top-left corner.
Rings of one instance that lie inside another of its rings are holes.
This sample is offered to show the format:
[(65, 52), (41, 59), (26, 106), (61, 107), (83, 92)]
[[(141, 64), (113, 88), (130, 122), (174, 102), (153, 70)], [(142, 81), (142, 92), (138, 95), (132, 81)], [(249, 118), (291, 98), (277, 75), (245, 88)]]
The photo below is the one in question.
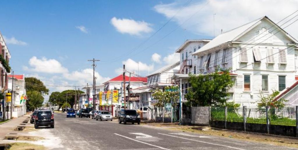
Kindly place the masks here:
[(27, 66), (23, 66), (24, 70), (34, 71), (34, 72), (42, 72), (42, 73), (68, 73), (68, 69), (63, 67), (60, 62), (55, 59), (46, 59), (46, 57), (42, 57), (38, 59), (36, 56), (33, 56), (29, 60), (30, 68)]

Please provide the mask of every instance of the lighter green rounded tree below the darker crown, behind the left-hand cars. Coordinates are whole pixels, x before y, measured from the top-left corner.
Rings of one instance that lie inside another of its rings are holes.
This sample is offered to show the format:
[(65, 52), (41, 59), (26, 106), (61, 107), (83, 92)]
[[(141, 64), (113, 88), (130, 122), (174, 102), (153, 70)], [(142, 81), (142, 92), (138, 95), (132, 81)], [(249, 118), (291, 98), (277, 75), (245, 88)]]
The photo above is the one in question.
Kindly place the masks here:
[(44, 102), (44, 97), (40, 92), (29, 91), (27, 92), (27, 94), (30, 94), (30, 97), (28, 97), (28, 101), (27, 101), (29, 109), (33, 111), (34, 109), (42, 106), (42, 103)]

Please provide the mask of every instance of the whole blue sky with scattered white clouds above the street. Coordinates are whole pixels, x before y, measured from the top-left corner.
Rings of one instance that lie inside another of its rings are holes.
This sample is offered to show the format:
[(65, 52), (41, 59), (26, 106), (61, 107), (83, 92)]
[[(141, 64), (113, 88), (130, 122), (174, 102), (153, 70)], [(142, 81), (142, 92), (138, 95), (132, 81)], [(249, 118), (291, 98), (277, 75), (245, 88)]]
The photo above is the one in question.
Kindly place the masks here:
[[(119, 75), (119, 68), (125, 63), (129, 70), (137, 71), (135, 63), (139, 62), (140, 74), (146, 76), (148, 68), (153, 72), (170, 63), (167, 60), (179, 60), (173, 53), (185, 39), (213, 38), (214, 13), (218, 35), (221, 29), (227, 31), (265, 15), (279, 21), (297, 6), (297, 1), (278, 0), (270, 4), (257, 0), (187, 2), (4, 0), (0, 31), (10, 50), (15, 74), (35, 76), (46, 85), (57, 85), (49, 87), (53, 92), (71, 88), (62, 86), (92, 83), (88, 59), (101, 60), (97, 62), (97, 83)], [(254, 12), (249, 11), (252, 9)], [(171, 17), (162, 30), (129, 53)], [(286, 31), (298, 35), (292, 27)], [(158, 55), (153, 61), (154, 53)]]

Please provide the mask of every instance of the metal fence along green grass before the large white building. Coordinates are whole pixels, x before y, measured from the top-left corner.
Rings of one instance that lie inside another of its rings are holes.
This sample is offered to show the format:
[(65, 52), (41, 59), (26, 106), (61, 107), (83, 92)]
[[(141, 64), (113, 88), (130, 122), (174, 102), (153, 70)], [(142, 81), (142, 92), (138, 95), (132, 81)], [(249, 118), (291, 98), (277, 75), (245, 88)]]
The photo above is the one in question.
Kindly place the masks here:
[(211, 107), (211, 120), (296, 126), (296, 108)]

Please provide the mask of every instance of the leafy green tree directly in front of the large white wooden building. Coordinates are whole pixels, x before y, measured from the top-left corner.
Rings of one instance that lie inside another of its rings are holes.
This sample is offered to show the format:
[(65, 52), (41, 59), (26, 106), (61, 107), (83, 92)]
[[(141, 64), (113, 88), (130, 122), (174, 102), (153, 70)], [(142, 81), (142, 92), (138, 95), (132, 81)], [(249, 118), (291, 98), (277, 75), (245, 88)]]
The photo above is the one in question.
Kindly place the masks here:
[(193, 106), (218, 106), (226, 103), (229, 96), (227, 92), (234, 85), (229, 70), (189, 76), (191, 89), (185, 97)]

